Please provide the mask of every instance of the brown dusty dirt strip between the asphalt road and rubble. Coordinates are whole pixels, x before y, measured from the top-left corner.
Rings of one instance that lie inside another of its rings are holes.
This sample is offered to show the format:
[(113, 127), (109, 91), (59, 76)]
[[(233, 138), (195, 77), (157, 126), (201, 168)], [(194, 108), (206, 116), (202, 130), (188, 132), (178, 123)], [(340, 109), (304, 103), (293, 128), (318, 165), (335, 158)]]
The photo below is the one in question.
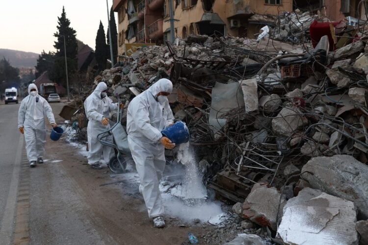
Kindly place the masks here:
[[(64, 120), (57, 116), (63, 103), (52, 104), (57, 123)], [(53, 143), (48, 139), (46, 146), (49, 161), (63, 159), (55, 163), (62, 166), (68, 178), (75, 183), (75, 189), (84, 198), (91, 220), (96, 229), (111, 237), (116, 244), (182, 244), (187, 241), (187, 233), (192, 232), (206, 244), (201, 237), (213, 226), (208, 224), (184, 224), (177, 218), (166, 217), (166, 227), (154, 228), (148, 218), (144, 201), (134, 190), (134, 184), (119, 180), (108, 169), (93, 170), (87, 159), (62, 138)], [(45, 157), (45, 158), (46, 158)]]

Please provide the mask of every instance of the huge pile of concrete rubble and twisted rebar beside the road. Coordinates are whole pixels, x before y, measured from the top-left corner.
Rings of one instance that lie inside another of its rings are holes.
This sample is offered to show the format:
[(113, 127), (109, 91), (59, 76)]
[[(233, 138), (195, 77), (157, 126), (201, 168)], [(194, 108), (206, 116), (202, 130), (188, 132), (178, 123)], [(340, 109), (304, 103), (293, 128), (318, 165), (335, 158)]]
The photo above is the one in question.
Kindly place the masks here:
[[(286, 41), (313, 22), (294, 12), (278, 19), (275, 33)], [(269, 50), (251, 39), (189, 36), (123, 57), (95, 82), (105, 80), (111, 98), (128, 105), (170, 78), (169, 102), (189, 128), (204, 181), (237, 202), (239, 217), (285, 243), (357, 244), (355, 225), (367, 230), (368, 219), (368, 38), (357, 36), (340, 48), (325, 35), (315, 48), (288, 50), (273, 40)], [(83, 130), (79, 114), (73, 121)]]

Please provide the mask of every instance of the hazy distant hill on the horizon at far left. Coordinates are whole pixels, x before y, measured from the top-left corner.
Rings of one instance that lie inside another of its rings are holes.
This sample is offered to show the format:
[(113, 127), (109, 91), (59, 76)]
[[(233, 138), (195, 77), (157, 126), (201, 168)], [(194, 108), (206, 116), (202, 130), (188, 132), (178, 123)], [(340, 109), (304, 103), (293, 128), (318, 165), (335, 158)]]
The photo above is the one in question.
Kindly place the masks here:
[(34, 68), (37, 65), (38, 53), (12, 49), (0, 49), (0, 59), (5, 57), (14, 67)]

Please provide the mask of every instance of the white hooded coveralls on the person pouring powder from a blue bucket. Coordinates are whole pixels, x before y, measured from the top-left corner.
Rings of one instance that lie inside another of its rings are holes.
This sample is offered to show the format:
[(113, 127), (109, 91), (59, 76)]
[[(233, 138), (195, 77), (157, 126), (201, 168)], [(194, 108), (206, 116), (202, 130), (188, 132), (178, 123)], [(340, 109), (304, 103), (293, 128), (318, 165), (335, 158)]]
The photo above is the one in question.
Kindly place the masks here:
[(170, 80), (159, 79), (148, 90), (133, 98), (128, 106), (128, 142), (140, 178), (139, 190), (150, 218), (164, 213), (158, 183), (166, 161), (165, 148), (159, 140), (161, 131), (174, 122), (167, 98), (160, 104), (156, 96), (159, 92), (171, 93), (172, 89)]

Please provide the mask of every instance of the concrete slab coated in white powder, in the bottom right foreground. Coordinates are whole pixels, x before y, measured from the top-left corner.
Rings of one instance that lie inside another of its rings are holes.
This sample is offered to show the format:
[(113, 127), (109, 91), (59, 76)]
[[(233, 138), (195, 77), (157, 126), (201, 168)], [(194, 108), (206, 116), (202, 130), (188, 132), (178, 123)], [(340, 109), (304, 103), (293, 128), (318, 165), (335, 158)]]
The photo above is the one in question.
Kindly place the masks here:
[(354, 203), (305, 188), (289, 199), (277, 233), (286, 244), (357, 244)]

